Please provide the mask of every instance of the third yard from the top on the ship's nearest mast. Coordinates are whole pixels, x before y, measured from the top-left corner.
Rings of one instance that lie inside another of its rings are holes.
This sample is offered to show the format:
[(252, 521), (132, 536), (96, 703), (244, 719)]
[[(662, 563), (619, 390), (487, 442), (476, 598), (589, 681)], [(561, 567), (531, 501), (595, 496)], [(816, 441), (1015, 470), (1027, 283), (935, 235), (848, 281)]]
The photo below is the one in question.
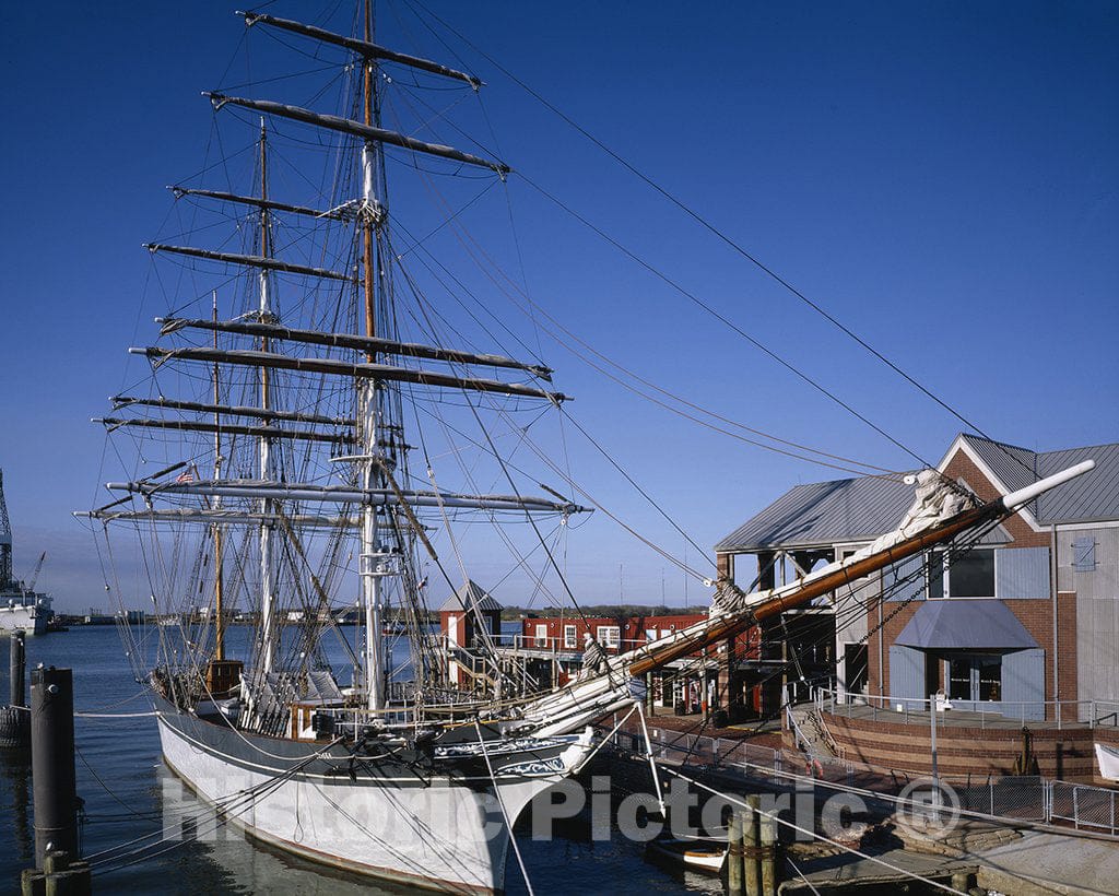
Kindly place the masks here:
[[(370, 258), (372, 266), (372, 258)], [(370, 277), (366, 277), (369, 282)], [(156, 323), (160, 324), (160, 336), (173, 333), (184, 327), (197, 330), (219, 330), (226, 333), (238, 333), (241, 336), (270, 337), (292, 342), (307, 342), (314, 346), (331, 346), (333, 348), (354, 349), (366, 352), (366, 360), (373, 361), (374, 352), (384, 355), (401, 355), (410, 358), (427, 358), (436, 361), (450, 361), (454, 364), (478, 364), (486, 367), (506, 367), (514, 370), (527, 370), (540, 379), (552, 380), (551, 368), (543, 365), (525, 364), (501, 355), (485, 355), (474, 351), (460, 351), (458, 349), (444, 349), (438, 346), (424, 346), (417, 342), (398, 342), (394, 339), (380, 339), (376, 336), (354, 336), (352, 333), (326, 332), (322, 330), (298, 330), (291, 327), (281, 327), (278, 323), (261, 323), (258, 321), (231, 320), (231, 321), (207, 321), (194, 320), (189, 318), (156, 318)], [(366, 320), (366, 327), (372, 326)]]

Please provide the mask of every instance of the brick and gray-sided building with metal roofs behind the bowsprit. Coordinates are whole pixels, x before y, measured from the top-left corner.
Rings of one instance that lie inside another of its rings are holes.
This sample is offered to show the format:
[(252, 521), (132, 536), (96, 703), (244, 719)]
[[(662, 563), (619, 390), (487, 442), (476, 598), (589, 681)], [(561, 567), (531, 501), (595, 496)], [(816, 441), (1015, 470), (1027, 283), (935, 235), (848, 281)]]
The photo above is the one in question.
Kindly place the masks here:
[[(989, 501), (1088, 459), (1091, 473), (967, 549), (928, 551), (821, 598), (840, 699), (942, 694), (1026, 719), (1055, 718), (1056, 700), (1064, 719), (1119, 709), (1119, 444), (1038, 453), (965, 434), (938, 469)], [(891, 531), (912, 500), (893, 479), (799, 485), (720, 541), (720, 569), (746, 590), (755, 568), (761, 587), (791, 581)]]

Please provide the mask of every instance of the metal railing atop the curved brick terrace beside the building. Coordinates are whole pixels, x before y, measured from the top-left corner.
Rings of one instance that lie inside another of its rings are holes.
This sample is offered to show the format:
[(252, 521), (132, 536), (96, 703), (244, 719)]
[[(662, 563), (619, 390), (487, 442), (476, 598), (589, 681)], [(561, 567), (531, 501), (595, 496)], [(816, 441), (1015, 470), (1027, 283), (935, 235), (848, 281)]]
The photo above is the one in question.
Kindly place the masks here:
[[(1110, 700), (953, 700), (920, 699), (915, 697), (880, 697), (873, 694), (849, 694), (833, 688), (816, 688), (812, 694), (816, 710), (833, 716), (854, 716), (856, 708), (871, 709), (871, 717), (883, 721), (900, 721), (904, 725), (928, 725), (930, 707), (935, 704), (938, 711), (971, 713), (980, 728), (988, 721), (1050, 721), (1057, 730), (1066, 725), (1090, 728), (1119, 727), (1119, 702)], [(1071, 711), (1070, 711), (1071, 709)], [(1052, 711), (1051, 711), (1052, 710)], [(968, 719), (971, 721), (971, 719)]]

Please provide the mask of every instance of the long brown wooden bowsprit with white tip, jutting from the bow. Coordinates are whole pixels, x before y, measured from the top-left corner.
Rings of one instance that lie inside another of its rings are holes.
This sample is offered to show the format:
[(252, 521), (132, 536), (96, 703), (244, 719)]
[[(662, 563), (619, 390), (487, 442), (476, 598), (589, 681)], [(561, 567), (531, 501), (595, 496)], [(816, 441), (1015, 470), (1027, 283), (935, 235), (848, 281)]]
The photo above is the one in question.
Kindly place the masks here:
[(629, 672), (631, 676), (642, 676), (653, 669), (659, 669), (673, 660), (686, 657), (696, 650), (728, 638), (734, 638), (762, 620), (775, 616), (787, 610), (803, 606), (809, 601), (835, 591), (843, 585), (849, 585), (856, 579), (871, 575), (890, 564), (912, 557), (914, 554), (920, 554), (933, 545), (948, 541), (960, 532), (982, 526), (986, 522), (1005, 519), (1017, 512), (1018, 508), (1033, 500), (1037, 494), (1055, 488), (1074, 477), (1087, 473), (1094, 465), (1092, 461), (1085, 461), (1084, 463), (1071, 466), (1026, 489), (1012, 492), (1004, 498), (991, 501), (989, 504), (963, 510), (939, 526), (925, 529), (912, 538), (875, 551), (868, 557), (843, 565), (830, 573), (820, 575), (818, 578), (806, 581), (799, 587), (789, 588), (784, 594), (760, 601), (756, 605), (746, 610), (727, 613), (725, 616), (697, 626), (696, 631), (687, 632), (683, 636), (673, 639), (662, 647), (652, 644), (642, 648), (637, 651), (637, 657), (630, 662)]

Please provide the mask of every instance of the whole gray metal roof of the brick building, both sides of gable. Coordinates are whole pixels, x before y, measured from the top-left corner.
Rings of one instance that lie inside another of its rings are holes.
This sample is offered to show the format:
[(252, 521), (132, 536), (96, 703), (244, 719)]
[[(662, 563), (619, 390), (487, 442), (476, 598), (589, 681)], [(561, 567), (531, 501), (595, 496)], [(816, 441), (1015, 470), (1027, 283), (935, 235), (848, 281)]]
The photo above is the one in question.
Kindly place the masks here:
[[(1094, 460), (1092, 472), (1046, 492), (1032, 510), (1045, 525), (1119, 519), (1119, 443), (1033, 452), (975, 435), (962, 437), (1009, 491)], [(720, 540), (715, 550), (871, 540), (894, 529), (912, 503), (912, 485), (875, 477), (798, 485)]]

